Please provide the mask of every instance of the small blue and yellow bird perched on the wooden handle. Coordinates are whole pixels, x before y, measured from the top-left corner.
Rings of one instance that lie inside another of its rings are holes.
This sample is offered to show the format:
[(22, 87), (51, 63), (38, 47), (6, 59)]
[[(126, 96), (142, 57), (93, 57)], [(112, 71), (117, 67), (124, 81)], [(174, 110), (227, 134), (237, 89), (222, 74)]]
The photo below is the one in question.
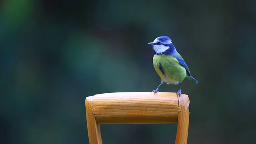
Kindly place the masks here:
[[(168, 36), (159, 36), (148, 44), (152, 45), (154, 50), (153, 65), (161, 78), (160, 85), (152, 91), (154, 94), (159, 92), (159, 87), (163, 83), (180, 85), (185, 78), (196, 84), (198, 83), (191, 76), (188, 65), (172, 44), (172, 39)], [(176, 94), (177, 96), (181, 95), (181, 88)]]

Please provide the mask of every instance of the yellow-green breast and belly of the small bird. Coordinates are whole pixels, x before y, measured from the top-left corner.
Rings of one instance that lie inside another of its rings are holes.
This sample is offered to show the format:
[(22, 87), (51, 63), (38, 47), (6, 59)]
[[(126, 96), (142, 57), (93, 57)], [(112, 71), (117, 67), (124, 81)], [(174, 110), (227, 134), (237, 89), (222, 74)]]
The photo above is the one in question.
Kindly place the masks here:
[(153, 57), (156, 72), (164, 82), (178, 84), (186, 77), (186, 69), (171, 55), (158, 55)]

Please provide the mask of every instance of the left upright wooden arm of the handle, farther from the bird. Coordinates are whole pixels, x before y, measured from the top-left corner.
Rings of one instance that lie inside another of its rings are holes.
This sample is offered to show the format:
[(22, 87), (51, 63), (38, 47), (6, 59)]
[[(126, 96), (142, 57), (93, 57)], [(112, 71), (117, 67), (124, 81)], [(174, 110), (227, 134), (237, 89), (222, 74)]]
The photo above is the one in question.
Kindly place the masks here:
[(97, 124), (95, 115), (92, 113), (92, 109), (94, 108), (94, 96), (86, 97), (85, 107), (89, 142), (90, 144), (102, 144), (100, 124)]

